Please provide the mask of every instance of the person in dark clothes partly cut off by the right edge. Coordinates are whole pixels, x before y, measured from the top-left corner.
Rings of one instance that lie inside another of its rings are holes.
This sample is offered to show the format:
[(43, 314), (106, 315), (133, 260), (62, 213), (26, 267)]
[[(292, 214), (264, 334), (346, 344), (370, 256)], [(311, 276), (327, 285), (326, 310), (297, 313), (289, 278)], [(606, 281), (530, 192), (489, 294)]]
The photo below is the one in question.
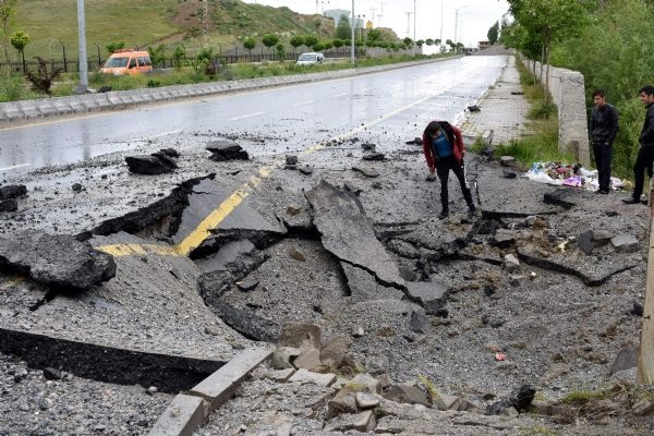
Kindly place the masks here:
[(635, 164), (633, 164), (634, 186), (631, 197), (622, 199), (627, 204), (640, 203), (640, 196), (643, 193), (645, 183), (645, 170), (651, 171), (654, 164), (654, 86), (643, 86), (640, 90), (640, 99), (645, 105), (645, 122), (639, 142), (641, 144), (638, 150)]

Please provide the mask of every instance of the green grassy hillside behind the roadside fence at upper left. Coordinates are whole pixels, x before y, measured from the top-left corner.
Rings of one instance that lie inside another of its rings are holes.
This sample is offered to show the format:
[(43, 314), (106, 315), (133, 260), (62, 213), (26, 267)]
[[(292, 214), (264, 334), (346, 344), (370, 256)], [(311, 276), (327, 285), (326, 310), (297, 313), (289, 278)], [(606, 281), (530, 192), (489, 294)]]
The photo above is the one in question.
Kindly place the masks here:
[[(26, 57), (61, 58), (77, 51), (76, 0), (22, 0), (15, 28), (27, 32)], [(302, 15), (288, 8), (246, 4), (239, 0), (209, 0), (209, 44), (225, 50), (245, 36), (278, 33), (334, 35), (334, 22), (319, 15)], [(89, 56), (96, 45), (106, 57), (106, 46), (124, 41), (128, 47), (183, 43), (190, 48), (203, 43), (197, 29), (204, 27), (201, 0), (85, 0), (86, 45)], [(317, 23), (320, 23), (319, 25)], [(195, 37), (193, 37), (195, 35)], [(216, 50), (218, 51), (218, 50)]]

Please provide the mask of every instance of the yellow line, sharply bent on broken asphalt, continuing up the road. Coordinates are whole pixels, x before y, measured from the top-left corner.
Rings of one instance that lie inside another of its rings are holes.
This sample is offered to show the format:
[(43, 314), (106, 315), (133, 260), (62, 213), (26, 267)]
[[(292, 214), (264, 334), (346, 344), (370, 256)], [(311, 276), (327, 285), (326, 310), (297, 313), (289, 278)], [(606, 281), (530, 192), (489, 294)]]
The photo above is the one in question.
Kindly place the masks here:
[[(417, 101), (407, 105), (402, 108), (396, 109), (387, 114), (379, 117), (378, 119), (364, 123), (356, 129), (343, 133), (342, 135), (327, 140), (325, 143), (314, 144), (307, 149), (300, 152), (299, 155), (307, 156), (315, 152), (318, 152), (326, 147), (326, 143), (334, 140), (344, 140), (360, 132), (365, 131), (375, 124), (380, 123), (384, 120), (389, 119), (404, 110), (411, 109), (414, 106), (421, 105), (428, 100), (431, 97), (423, 97)], [(211, 230), (216, 229), (220, 223), (237, 208), (250, 194), (267, 178), (270, 177), (272, 170), (281, 167), (282, 161), (277, 160), (269, 167), (262, 167), (258, 169), (257, 174), (252, 175), (250, 180), (228, 196), (214, 211), (211, 211), (205, 219), (203, 219), (195, 230), (193, 230), (182, 242), (174, 246), (164, 246), (154, 244), (113, 244), (97, 246), (96, 250), (111, 254), (112, 256), (129, 256), (129, 255), (145, 255), (146, 253), (158, 254), (162, 256), (187, 256), (194, 249), (198, 247), (210, 234)]]

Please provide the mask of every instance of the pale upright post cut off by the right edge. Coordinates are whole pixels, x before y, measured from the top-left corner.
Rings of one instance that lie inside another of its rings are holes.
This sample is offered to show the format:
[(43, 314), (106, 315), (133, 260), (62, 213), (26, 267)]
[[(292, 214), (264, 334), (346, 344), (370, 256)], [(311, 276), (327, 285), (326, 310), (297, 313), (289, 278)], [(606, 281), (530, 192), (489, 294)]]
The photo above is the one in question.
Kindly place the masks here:
[(650, 181), (650, 246), (647, 250), (647, 278), (645, 282), (645, 304), (641, 343), (638, 350), (638, 373), (635, 382), (654, 384), (654, 187)]

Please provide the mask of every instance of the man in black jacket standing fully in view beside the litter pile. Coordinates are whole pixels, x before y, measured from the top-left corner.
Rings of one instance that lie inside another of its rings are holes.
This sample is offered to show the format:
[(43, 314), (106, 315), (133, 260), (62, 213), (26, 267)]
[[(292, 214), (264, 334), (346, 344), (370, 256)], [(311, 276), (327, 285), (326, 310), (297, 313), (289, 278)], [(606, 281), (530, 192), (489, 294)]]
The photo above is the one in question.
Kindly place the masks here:
[(600, 179), (597, 194), (608, 194), (610, 187), (610, 158), (613, 143), (618, 134), (618, 111), (606, 102), (604, 89), (593, 92), (595, 107), (591, 112), (593, 154)]

